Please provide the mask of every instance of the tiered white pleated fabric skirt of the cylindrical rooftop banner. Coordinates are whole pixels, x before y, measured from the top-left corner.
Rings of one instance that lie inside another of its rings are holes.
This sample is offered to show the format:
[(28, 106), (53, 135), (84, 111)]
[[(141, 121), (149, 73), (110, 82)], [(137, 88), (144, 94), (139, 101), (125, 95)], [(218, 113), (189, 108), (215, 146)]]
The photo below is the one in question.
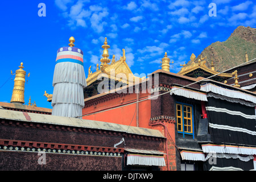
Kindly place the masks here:
[(57, 63), (52, 85), (52, 115), (81, 118), (86, 86), (84, 67), (71, 62)]

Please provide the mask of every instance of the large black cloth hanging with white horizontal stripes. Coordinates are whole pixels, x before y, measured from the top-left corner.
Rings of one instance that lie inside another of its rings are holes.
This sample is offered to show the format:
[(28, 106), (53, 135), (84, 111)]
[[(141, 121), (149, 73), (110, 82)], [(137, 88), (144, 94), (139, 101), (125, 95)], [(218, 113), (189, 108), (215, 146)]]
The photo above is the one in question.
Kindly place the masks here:
[(206, 109), (214, 143), (256, 145), (254, 107), (208, 97)]

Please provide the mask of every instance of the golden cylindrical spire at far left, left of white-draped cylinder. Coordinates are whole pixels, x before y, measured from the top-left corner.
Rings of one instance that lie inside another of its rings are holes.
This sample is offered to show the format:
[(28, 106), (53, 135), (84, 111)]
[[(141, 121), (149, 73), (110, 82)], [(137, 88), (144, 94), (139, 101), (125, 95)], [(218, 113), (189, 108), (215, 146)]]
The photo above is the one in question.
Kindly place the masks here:
[[(16, 72), (12, 75), (15, 75), (14, 78), (14, 89), (13, 89), (13, 95), (11, 96), (11, 102), (14, 102), (15, 104), (24, 104), (24, 88), (25, 88), (25, 77), (26, 77), (26, 71), (23, 70), (23, 63), (20, 63), (19, 69), (16, 70)], [(28, 73), (27, 77), (30, 76), (30, 73)]]

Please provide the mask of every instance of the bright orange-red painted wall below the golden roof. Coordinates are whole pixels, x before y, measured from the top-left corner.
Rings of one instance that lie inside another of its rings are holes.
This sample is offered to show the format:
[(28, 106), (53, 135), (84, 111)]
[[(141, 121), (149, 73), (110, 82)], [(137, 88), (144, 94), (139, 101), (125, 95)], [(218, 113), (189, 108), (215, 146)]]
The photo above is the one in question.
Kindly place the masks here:
[[(139, 100), (147, 98), (147, 93), (141, 93)], [(137, 94), (123, 94), (120, 97), (115, 97), (111, 100), (96, 102), (95, 105), (86, 106), (82, 110), (82, 114), (95, 113), (102, 111), (101, 113), (86, 115), (83, 119), (92, 119), (96, 121), (112, 122), (121, 125), (137, 126), (137, 104), (125, 105), (127, 103), (136, 102)], [(123, 106), (122, 106), (123, 105)], [(119, 107), (122, 106), (122, 107)], [(108, 110), (113, 107), (118, 107), (112, 110)], [(104, 111), (108, 110), (108, 111)], [(151, 100), (139, 102), (139, 127), (151, 128), (148, 126), (148, 122), (151, 117)]]

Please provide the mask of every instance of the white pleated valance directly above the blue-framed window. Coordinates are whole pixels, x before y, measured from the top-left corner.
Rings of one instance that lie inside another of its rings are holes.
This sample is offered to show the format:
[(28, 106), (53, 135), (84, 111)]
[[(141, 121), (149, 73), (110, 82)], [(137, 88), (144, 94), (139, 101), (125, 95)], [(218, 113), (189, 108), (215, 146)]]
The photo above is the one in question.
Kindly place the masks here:
[(170, 94), (175, 94), (177, 96), (183, 96), (187, 98), (193, 98), (199, 101), (207, 101), (207, 94), (196, 92), (190, 89), (180, 88), (179, 86), (172, 86)]

